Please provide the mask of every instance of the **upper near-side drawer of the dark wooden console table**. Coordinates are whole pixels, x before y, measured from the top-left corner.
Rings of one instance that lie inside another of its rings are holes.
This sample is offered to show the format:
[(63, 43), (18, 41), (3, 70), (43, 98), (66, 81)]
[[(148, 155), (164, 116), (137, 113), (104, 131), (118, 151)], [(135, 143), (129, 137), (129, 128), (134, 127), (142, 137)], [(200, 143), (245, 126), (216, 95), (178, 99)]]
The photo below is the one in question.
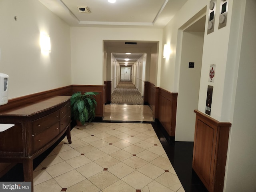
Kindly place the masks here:
[(57, 110), (47, 116), (32, 121), (32, 135), (38, 134), (45, 129), (50, 128), (60, 120), (60, 111)]

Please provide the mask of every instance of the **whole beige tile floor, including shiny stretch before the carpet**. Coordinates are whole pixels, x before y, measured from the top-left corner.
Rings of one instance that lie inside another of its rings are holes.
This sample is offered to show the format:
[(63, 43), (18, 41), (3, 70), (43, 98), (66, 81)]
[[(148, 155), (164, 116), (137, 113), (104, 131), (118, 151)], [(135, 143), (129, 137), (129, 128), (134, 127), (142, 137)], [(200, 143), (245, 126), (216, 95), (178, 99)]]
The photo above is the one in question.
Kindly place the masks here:
[[(147, 107), (107, 105), (104, 120), (153, 121)], [(34, 192), (184, 192), (150, 123), (90, 123), (71, 134), (34, 170)]]

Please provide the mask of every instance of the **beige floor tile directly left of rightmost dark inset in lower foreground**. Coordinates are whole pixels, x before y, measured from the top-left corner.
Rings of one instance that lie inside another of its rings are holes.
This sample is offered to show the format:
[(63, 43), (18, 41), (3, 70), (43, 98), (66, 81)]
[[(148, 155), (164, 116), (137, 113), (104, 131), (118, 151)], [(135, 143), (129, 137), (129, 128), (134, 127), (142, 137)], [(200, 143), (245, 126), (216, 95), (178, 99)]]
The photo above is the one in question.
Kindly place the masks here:
[(165, 172), (163, 169), (151, 163), (148, 163), (142, 166), (141, 168), (138, 169), (138, 171), (152, 178), (153, 180), (158, 178), (160, 175), (162, 175)]

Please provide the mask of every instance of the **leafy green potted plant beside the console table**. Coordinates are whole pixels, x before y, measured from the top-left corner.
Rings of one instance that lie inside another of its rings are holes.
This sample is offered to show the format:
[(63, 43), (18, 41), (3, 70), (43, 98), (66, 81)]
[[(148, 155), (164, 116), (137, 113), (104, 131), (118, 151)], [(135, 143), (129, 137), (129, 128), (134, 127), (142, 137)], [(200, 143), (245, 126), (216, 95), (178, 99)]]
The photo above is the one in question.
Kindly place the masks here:
[(71, 105), (71, 116), (76, 120), (77, 124), (79, 122), (84, 125), (85, 122), (91, 122), (95, 117), (95, 108), (97, 105), (96, 96), (97, 92), (81, 92), (74, 93), (70, 98)]

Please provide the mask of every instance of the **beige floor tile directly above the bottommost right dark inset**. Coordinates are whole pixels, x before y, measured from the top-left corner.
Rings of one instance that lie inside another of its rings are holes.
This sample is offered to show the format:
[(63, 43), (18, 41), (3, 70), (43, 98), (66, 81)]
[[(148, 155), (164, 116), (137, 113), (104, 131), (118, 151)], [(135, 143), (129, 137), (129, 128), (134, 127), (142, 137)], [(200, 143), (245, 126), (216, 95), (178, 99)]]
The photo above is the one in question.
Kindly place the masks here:
[(134, 171), (128, 176), (122, 178), (122, 181), (126, 182), (135, 189), (142, 189), (153, 180), (138, 171)]

